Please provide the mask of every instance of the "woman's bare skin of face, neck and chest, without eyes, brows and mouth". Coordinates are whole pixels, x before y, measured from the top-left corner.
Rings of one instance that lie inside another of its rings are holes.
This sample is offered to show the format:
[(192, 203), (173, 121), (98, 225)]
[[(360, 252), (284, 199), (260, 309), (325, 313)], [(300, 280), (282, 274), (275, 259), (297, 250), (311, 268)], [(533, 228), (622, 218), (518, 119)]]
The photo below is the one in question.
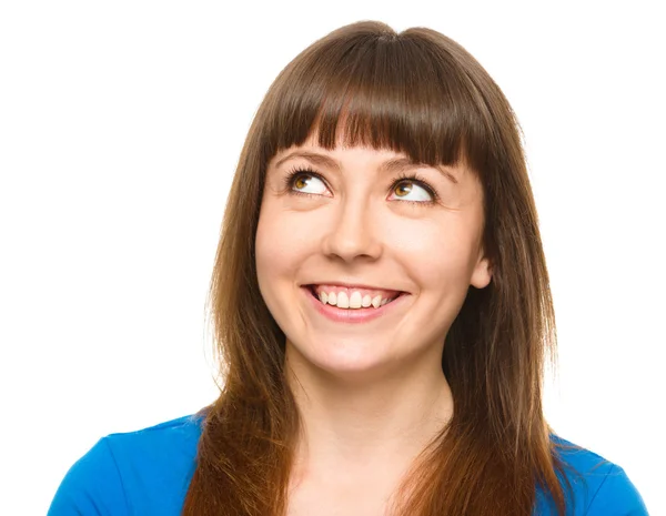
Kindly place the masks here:
[[(340, 170), (305, 158), (332, 158)], [(381, 171), (406, 158), (364, 146), (302, 146), (269, 163), (256, 232), (262, 296), (286, 335), (287, 377), (302, 416), (290, 515), (381, 515), (420, 452), (453, 414), (442, 372), (446, 333), (467, 289), (485, 287), (483, 190), (464, 164), (415, 169), (437, 193)], [(293, 168), (310, 168), (291, 189)], [(408, 172), (407, 172), (408, 173)], [(312, 193), (299, 195), (294, 190)], [(301, 285), (342, 281), (404, 291), (375, 321), (329, 321)]]

